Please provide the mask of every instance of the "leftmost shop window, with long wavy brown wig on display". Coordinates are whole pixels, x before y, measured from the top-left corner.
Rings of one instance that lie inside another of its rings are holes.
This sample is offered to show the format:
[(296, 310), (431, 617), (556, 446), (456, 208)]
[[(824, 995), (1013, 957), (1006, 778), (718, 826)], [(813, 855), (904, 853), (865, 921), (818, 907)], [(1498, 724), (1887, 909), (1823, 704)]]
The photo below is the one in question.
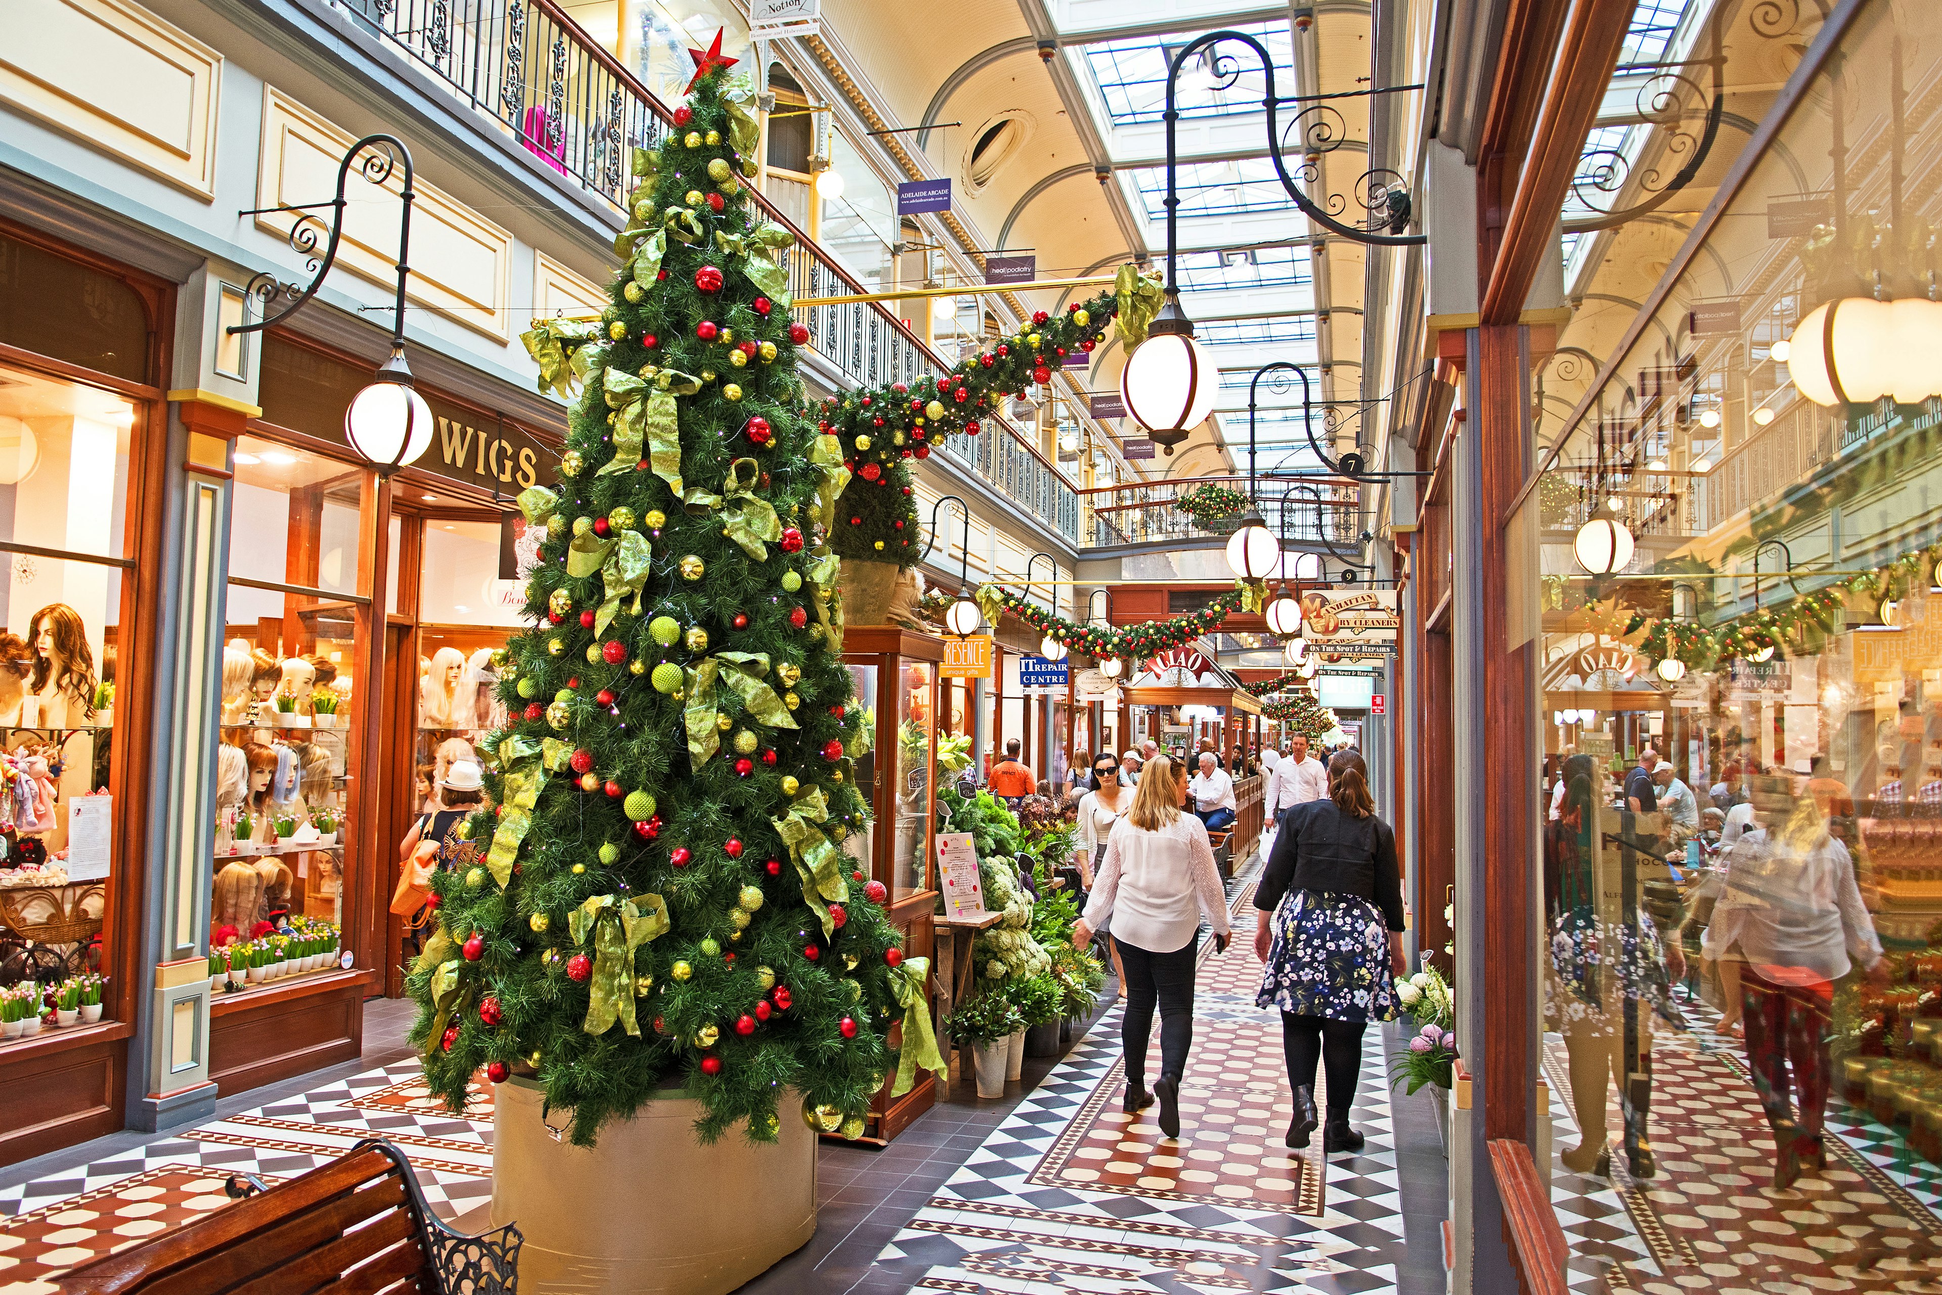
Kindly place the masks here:
[(33, 549), (0, 549), (0, 1050), (39, 1035), (47, 1012), (54, 1029), (101, 1015), (89, 977), (107, 963), (124, 864), (115, 683), (142, 415), (122, 396), (0, 367), (0, 540)]

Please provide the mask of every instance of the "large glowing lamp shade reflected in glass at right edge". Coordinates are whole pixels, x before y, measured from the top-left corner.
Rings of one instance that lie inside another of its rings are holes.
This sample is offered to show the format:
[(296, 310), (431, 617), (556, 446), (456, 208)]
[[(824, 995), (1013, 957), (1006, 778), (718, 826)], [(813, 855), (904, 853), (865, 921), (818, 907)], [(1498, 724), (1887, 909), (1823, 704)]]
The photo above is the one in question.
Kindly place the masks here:
[(1814, 404), (1921, 404), (1942, 394), (1942, 301), (1843, 297), (1787, 340), (1787, 375)]

